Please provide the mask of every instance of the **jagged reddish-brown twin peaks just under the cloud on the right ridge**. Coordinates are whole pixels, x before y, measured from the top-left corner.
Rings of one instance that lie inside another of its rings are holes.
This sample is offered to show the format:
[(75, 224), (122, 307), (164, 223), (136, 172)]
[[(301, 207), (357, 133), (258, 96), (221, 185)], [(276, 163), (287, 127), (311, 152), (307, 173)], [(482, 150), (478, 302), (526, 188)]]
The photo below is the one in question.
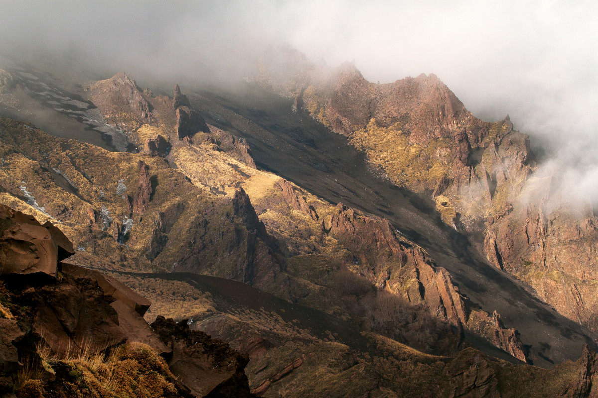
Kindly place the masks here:
[(356, 126), (364, 127), (374, 118), (383, 126), (401, 122), (410, 134), (410, 143), (427, 143), (432, 138), (453, 138), (471, 118), (461, 101), (433, 74), (374, 84), (350, 63), (330, 73), (331, 78), (322, 80), (316, 75), (302, 100), (312, 115), (323, 109), (321, 115), (341, 134), (350, 135)]

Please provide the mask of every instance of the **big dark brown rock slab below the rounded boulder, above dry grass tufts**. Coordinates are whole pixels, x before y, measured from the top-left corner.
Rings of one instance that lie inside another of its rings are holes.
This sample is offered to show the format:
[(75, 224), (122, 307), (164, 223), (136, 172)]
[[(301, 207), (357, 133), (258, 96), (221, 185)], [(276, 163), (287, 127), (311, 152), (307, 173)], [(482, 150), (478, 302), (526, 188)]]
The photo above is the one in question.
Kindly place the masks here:
[(170, 351), (152, 334), (143, 314), (149, 302), (99, 271), (62, 264), (63, 279), (56, 285), (29, 287), (20, 300), (42, 300), (33, 330), (51, 350), (65, 354), (90, 345), (94, 349), (124, 341), (148, 344), (158, 353)]

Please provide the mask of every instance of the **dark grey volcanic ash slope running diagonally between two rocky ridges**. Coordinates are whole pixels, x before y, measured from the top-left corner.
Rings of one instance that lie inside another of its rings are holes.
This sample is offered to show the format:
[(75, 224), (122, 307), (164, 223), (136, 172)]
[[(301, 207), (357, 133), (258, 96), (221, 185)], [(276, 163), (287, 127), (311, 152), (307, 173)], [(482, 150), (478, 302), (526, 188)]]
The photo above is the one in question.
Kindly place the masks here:
[(521, 333), (534, 365), (550, 368), (576, 360), (585, 343), (596, 349), (587, 330), (487, 264), (468, 237), (441, 222), (430, 199), (390, 184), (345, 137), (305, 113), (291, 112), (291, 100), (255, 87), (241, 95), (200, 92), (193, 99), (210, 124), (246, 138), (261, 168), (332, 203), (343, 202), (392, 221), (399, 233), (450, 271), (463, 294), (489, 313), (498, 311), (505, 326)]

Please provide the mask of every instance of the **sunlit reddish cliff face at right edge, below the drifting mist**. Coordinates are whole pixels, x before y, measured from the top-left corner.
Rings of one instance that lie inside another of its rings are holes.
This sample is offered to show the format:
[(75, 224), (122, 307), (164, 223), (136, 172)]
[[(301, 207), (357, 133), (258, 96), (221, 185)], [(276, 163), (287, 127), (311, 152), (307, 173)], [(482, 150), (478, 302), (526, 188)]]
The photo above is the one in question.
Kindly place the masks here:
[(591, 209), (550, 209), (544, 203), (509, 203), (489, 218), (487, 257), (560, 313), (597, 332), (598, 220)]

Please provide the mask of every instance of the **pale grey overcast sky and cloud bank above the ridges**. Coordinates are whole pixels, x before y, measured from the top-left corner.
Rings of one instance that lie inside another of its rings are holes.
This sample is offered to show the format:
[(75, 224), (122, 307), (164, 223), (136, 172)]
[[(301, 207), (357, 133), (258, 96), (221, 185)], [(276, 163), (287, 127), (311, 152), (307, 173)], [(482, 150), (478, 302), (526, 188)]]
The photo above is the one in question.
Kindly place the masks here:
[(234, 70), (242, 51), (288, 42), (330, 66), (355, 60), (374, 82), (435, 73), (476, 116), (509, 113), (560, 149), (559, 164), (587, 163), (577, 178), (591, 189), (597, 21), (596, 1), (0, 0), (0, 46), (89, 51), (115, 72), (193, 77), (202, 64)]

